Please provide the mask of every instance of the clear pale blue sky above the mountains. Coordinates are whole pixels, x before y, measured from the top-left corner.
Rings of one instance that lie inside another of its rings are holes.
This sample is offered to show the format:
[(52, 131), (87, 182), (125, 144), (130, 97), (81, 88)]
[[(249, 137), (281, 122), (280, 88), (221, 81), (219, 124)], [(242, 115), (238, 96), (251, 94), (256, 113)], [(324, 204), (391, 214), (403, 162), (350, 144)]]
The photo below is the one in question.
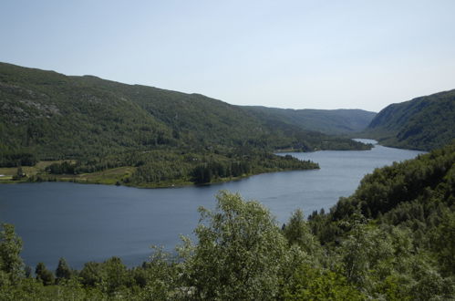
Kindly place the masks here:
[(379, 111), (455, 88), (452, 0), (2, 0), (0, 61), (235, 105)]

